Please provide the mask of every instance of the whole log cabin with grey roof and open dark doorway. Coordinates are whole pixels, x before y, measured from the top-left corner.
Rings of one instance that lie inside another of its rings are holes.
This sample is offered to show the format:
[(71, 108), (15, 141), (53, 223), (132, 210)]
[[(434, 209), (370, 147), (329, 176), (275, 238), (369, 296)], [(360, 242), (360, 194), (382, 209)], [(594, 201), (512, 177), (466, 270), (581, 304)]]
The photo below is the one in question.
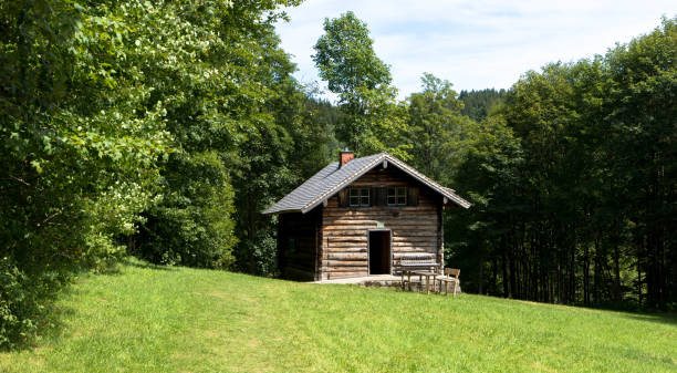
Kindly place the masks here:
[(407, 258), (444, 266), (442, 210), (468, 208), (400, 159), (381, 153), (334, 162), (263, 214), (277, 214), (282, 277), (396, 274)]

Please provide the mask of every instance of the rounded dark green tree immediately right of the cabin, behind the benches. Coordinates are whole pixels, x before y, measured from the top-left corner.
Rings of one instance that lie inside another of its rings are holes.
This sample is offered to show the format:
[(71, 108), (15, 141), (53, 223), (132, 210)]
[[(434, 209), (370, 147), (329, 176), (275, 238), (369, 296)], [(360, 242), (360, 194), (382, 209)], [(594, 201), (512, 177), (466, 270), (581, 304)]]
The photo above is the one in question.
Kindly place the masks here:
[(446, 258), (464, 269), (465, 290), (508, 297), (508, 265), (518, 255), (507, 248), (524, 211), (524, 155), (501, 116), (466, 128), (468, 141), (452, 185), (472, 207), (445, 214)]

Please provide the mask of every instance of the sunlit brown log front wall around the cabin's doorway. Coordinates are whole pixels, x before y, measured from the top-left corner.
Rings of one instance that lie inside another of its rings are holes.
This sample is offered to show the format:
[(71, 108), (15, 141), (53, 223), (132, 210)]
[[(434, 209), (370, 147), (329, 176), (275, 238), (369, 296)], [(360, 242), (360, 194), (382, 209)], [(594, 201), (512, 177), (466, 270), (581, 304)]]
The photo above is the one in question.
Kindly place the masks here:
[(351, 186), (418, 186), (418, 206), (341, 207), (337, 196), (330, 198), (327, 205), (320, 208), (322, 279), (368, 274), (369, 229), (390, 230), (392, 268), (407, 252), (430, 252), (437, 262), (442, 262), (442, 201), (439, 195), (393, 166), (377, 167)]

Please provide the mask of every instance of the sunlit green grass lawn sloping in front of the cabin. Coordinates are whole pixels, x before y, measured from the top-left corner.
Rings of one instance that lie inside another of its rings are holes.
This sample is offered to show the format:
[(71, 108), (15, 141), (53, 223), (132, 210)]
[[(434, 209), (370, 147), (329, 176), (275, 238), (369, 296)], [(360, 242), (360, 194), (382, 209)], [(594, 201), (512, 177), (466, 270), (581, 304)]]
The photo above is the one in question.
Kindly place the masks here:
[(7, 372), (676, 372), (677, 320), (132, 260), (81, 278)]

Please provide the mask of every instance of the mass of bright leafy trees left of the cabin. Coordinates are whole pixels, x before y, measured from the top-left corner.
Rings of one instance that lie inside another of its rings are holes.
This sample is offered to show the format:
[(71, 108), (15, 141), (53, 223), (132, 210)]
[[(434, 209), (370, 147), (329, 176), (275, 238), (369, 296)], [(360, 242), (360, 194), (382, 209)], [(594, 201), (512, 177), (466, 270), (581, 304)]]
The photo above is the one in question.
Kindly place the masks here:
[(335, 146), (274, 32), (298, 3), (0, 2), (0, 345), (128, 252), (273, 273), (259, 213)]

